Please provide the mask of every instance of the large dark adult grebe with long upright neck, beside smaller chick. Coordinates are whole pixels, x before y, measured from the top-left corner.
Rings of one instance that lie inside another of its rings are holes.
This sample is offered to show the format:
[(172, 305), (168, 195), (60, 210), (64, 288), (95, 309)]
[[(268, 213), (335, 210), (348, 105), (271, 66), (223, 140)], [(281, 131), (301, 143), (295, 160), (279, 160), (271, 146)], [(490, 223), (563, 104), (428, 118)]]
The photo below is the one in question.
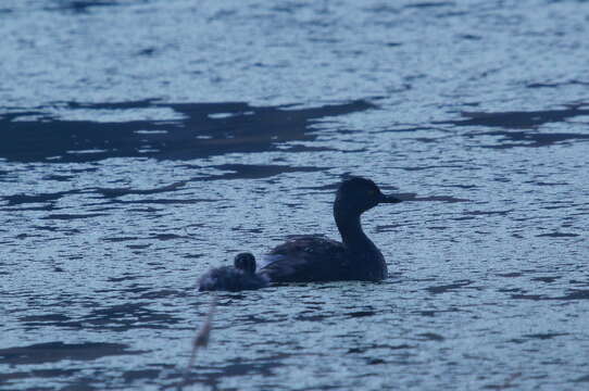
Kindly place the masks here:
[(383, 194), (369, 179), (343, 180), (334, 202), (334, 217), (342, 241), (322, 236), (293, 237), (263, 257), (258, 274), (272, 282), (379, 281), (386, 278), (385, 257), (362, 230), (360, 216), (379, 203), (398, 202), (401, 200)]

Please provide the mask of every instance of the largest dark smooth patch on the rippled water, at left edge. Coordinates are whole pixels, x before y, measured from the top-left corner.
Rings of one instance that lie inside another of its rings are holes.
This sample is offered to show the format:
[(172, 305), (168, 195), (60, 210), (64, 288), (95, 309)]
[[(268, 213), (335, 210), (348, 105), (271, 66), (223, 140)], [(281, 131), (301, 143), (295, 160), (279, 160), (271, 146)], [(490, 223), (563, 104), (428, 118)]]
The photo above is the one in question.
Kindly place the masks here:
[[(181, 119), (65, 121), (42, 111), (0, 114), (0, 157), (13, 162), (95, 162), (110, 157), (193, 160), (226, 153), (278, 150), (279, 143), (314, 140), (319, 118), (374, 108), (365, 101), (313, 109), (251, 106), (247, 103), (67, 103), (70, 111), (130, 111), (165, 108)], [(55, 137), (59, 135), (60, 137)], [(15, 147), (17, 146), (17, 147)], [(283, 152), (308, 150), (302, 146)], [(314, 149), (310, 150), (324, 150)]]

